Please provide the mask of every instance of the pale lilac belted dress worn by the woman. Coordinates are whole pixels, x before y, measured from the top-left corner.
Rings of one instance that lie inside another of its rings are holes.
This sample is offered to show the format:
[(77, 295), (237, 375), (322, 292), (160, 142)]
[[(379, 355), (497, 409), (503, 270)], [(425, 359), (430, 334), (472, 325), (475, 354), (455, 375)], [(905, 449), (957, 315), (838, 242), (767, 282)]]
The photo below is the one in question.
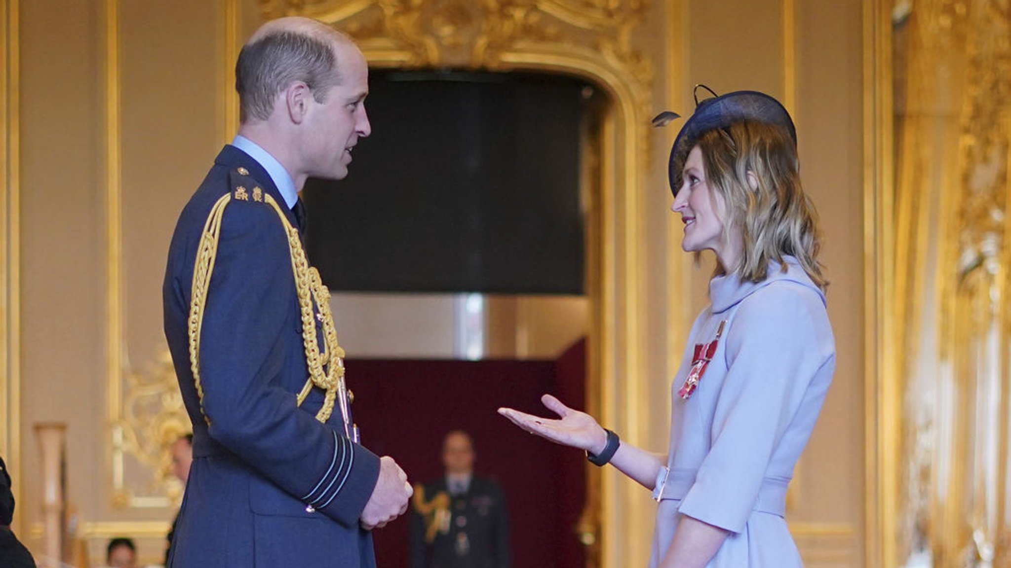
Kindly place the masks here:
[[(731, 532), (708, 568), (802, 566), (784, 518), (787, 485), (811, 436), (835, 369), (825, 296), (797, 261), (760, 283), (710, 283), (712, 305), (692, 327), (672, 387), (670, 448), (650, 568), (686, 514)], [(696, 391), (678, 396), (696, 344), (715, 355)], [(664, 476), (661, 470), (661, 477)]]

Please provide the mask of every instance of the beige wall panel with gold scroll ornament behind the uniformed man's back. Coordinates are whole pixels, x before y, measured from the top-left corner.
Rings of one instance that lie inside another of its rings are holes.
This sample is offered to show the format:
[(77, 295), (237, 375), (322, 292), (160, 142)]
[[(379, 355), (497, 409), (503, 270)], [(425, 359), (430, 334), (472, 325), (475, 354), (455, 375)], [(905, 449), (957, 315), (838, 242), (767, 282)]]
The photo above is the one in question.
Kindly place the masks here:
[(238, 0), (106, 0), (104, 13), (111, 497), (116, 508), (169, 511), (182, 488), (167, 448), (190, 427), (162, 333), (161, 279), (176, 214), (235, 133), (226, 89), (241, 10)]

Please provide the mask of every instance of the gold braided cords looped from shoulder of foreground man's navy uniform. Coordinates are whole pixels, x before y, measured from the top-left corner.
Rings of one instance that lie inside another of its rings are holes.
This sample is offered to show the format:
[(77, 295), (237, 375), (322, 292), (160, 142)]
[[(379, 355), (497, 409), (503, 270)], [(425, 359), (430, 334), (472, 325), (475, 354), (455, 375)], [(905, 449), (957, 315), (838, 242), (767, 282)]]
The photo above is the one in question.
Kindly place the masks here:
[[(203, 387), (200, 383), (200, 330), (207, 302), (207, 290), (210, 287), (214, 260), (217, 256), (221, 217), (224, 214), (224, 206), (231, 201), (231, 193), (225, 194), (211, 207), (207, 221), (204, 223), (203, 233), (200, 236), (196, 263), (193, 267), (189, 316), (190, 368), (193, 372), (197, 396), (200, 399), (200, 412), (203, 413), (203, 418), (208, 424), (210, 424), (210, 417), (203, 409)], [(326, 422), (334, 412), (338, 394), (346, 390), (344, 385), (344, 349), (337, 342), (337, 327), (334, 325), (334, 316), (330, 310), (330, 290), (323, 285), (319, 272), (308, 265), (305, 251), (302, 249), (302, 243), (298, 236), (298, 229), (291, 224), (277, 201), (270, 194), (266, 194), (264, 195), (264, 203), (274, 208), (284, 226), (291, 257), (291, 272), (298, 295), (302, 322), (302, 344), (305, 349), (305, 363), (309, 376), (298, 393), (296, 404), (300, 406), (305, 401), (313, 386), (323, 389), (326, 392), (324, 404), (316, 412), (315, 418), (320, 422)], [(319, 350), (316, 337), (313, 302), (323, 322), (326, 347), (324, 351)], [(348, 421), (347, 411), (345, 411), (344, 419)]]

